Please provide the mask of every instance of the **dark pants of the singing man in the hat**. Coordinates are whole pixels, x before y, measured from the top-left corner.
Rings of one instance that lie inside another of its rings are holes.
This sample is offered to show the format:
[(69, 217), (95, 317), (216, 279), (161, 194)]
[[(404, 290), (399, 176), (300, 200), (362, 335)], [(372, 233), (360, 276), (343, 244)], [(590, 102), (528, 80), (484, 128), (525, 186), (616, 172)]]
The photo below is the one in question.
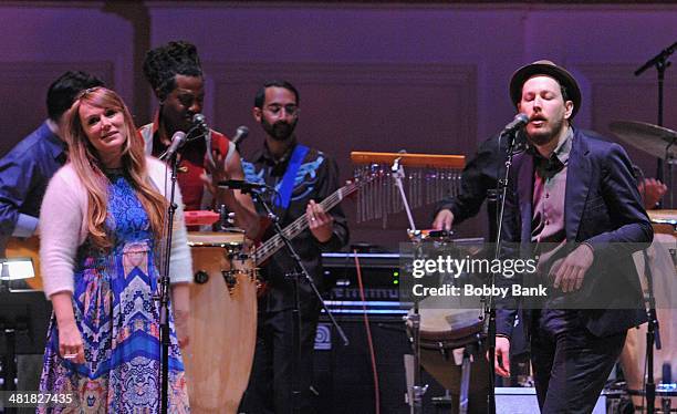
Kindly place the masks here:
[(625, 332), (595, 337), (584, 327), (555, 333), (534, 323), (531, 361), (541, 413), (591, 413), (621, 355)]

